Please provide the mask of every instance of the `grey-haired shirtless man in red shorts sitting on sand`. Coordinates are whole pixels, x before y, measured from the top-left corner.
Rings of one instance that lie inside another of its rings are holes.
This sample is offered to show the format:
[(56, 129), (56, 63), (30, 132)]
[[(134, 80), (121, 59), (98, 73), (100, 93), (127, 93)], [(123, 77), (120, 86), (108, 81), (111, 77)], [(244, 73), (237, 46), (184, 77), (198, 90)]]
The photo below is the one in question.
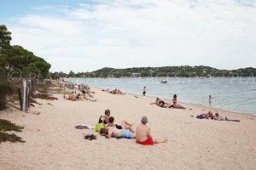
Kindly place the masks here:
[(167, 139), (165, 140), (157, 140), (153, 139), (151, 134), (150, 134), (150, 128), (146, 125), (148, 122), (148, 117), (143, 116), (142, 118), (142, 124), (137, 126), (136, 129), (136, 142), (137, 144), (143, 144), (143, 145), (148, 145), (148, 144), (160, 144), (160, 143), (166, 143)]

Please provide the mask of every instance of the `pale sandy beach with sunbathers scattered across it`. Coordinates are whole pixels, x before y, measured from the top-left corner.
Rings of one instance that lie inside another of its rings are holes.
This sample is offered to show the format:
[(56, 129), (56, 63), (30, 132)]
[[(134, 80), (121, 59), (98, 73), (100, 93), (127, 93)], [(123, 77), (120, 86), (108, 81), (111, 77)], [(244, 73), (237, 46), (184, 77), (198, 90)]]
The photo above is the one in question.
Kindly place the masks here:
[[(26, 143), (0, 144), (0, 169), (254, 169), (256, 116), (211, 110), (241, 122), (196, 119), (209, 108), (182, 104), (187, 109), (150, 105), (154, 98), (114, 95), (91, 88), (96, 99), (70, 101), (37, 99), (28, 113), (9, 108), (0, 118), (24, 126), (16, 133)], [(50, 105), (49, 105), (50, 104)], [(148, 116), (153, 138), (165, 144), (140, 145), (135, 139), (105, 139), (94, 130), (76, 129), (79, 123), (95, 126), (109, 109), (115, 122), (141, 122)], [(39, 112), (39, 114), (38, 114)], [(83, 134), (94, 133), (96, 140)]]

